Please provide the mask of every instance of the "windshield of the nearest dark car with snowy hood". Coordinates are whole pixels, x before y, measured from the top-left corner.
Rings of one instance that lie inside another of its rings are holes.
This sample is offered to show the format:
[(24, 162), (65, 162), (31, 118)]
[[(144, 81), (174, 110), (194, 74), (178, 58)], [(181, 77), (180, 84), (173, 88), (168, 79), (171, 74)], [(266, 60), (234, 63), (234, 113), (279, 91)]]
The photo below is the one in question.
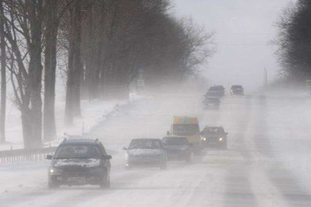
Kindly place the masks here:
[(100, 159), (101, 152), (95, 145), (61, 145), (55, 159)]

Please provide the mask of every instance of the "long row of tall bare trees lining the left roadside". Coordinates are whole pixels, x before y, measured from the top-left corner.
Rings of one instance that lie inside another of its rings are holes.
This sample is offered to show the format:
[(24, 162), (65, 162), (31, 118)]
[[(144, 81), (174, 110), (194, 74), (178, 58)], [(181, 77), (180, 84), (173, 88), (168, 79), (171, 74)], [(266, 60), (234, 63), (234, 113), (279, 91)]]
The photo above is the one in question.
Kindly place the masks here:
[(149, 85), (194, 74), (212, 53), (212, 34), (190, 19), (175, 19), (170, 7), (167, 0), (0, 0), (1, 141), (6, 72), (26, 148), (56, 137), (60, 61), (66, 65), (67, 126), (81, 115), (81, 98), (128, 98), (141, 69)]

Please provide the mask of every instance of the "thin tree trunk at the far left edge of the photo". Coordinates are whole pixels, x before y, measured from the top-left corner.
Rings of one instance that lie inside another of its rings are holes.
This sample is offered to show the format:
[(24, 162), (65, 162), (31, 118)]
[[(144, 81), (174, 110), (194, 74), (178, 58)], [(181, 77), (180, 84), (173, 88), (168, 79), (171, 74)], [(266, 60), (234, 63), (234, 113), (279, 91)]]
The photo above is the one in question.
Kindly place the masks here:
[(0, 47), (1, 47), (1, 106), (0, 106), (0, 143), (6, 141), (5, 123), (6, 123), (6, 42), (4, 36), (4, 11), (3, 0), (0, 0)]

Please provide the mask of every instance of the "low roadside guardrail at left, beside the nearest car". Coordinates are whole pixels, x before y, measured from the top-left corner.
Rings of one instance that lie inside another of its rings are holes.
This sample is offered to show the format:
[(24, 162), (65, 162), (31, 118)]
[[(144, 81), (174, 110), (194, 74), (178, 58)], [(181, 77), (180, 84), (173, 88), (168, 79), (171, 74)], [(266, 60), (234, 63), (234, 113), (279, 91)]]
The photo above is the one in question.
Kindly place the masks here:
[(56, 146), (31, 149), (11, 149), (0, 151), (0, 162), (43, 161), (48, 154), (53, 154)]

